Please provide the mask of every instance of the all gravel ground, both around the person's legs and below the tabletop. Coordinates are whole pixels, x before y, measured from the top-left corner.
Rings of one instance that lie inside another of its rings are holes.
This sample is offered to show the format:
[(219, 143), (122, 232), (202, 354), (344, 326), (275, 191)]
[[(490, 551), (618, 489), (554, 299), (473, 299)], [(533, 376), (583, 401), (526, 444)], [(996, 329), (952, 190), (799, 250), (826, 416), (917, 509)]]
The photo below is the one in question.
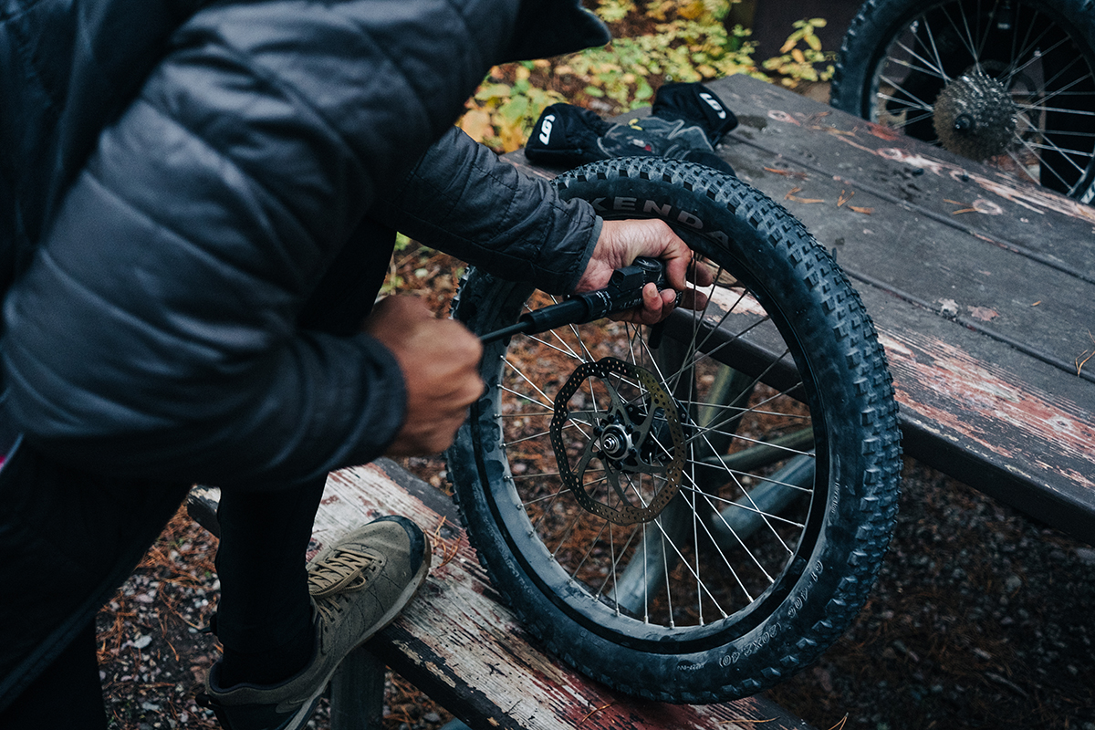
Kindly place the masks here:
[[(438, 483), (438, 463), (408, 463)], [(181, 512), (100, 614), (113, 728), (216, 728), (216, 541)], [(852, 629), (773, 699), (821, 730), (1095, 730), (1095, 549), (909, 461), (895, 540)], [(400, 677), (385, 730), (451, 716)], [(321, 707), (311, 727), (328, 727)]]

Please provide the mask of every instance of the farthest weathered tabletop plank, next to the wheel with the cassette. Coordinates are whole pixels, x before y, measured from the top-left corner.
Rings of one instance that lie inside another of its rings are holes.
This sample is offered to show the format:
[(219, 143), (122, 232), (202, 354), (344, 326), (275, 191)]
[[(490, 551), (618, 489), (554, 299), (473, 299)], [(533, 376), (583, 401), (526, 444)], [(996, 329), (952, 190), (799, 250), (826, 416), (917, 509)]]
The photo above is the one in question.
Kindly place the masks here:
[[(765, 192), (779, 192), (776, 199), (794, 181), (780, 179), (765, 167), (794, 163), (811, 174), (799, 197), (820, 197), (807, 194), (809, 184), (839, 178), (857, 196), (871, 194), (984, 236), (987, 245), (1013, 246), (1021, 255), (1057, 263), (1088, 281), (1095, 278), (1095, 208), (756, 79), (730, 77), (711, 88), (741, 120), (724, 140), (726, 157), (734, 161), (747, 155), (745, 148), (760, 150), (753, 161), (741, 158), (739, 173)], [(865, 205), (860, 200), (849, 205)]]

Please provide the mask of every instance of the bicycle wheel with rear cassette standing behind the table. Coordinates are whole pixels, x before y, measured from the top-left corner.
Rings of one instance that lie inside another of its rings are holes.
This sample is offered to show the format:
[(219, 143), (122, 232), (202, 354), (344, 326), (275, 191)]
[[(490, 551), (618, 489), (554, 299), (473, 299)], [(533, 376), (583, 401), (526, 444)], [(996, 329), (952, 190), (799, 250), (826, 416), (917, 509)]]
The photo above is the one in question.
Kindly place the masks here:
[(1083, 202), (1095, 196), (1085, 0), (868, 0), (831, 103)]

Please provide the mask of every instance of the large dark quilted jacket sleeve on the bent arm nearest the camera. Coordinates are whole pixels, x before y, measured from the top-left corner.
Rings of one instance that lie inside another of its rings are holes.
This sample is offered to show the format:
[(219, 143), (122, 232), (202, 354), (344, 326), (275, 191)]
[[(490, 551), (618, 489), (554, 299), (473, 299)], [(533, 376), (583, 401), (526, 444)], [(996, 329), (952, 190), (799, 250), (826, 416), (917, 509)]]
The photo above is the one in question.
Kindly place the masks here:
[(365, 335), (300, 332), (296, 316), (511, 22), (475, 0), (197, 13), (9, 292), (19, 428), (91, 471), (222, 486), (382, 453), (402, 419), (392, 356)]

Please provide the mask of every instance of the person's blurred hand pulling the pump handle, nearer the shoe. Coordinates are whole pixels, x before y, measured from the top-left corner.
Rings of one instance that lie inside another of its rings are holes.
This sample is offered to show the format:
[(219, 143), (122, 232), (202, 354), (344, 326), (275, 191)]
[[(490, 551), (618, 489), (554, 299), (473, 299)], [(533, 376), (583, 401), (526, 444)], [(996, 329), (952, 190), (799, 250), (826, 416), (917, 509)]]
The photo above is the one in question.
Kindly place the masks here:
[(365, 331), (395, 356), (406, 389), (403, 428), (385, 455), (423, 456), (447, 449), (468, 406), (483, 394), (479, 338), (459, 322), (435, 318), (414, 297), (389, 297), (377, 304)]

